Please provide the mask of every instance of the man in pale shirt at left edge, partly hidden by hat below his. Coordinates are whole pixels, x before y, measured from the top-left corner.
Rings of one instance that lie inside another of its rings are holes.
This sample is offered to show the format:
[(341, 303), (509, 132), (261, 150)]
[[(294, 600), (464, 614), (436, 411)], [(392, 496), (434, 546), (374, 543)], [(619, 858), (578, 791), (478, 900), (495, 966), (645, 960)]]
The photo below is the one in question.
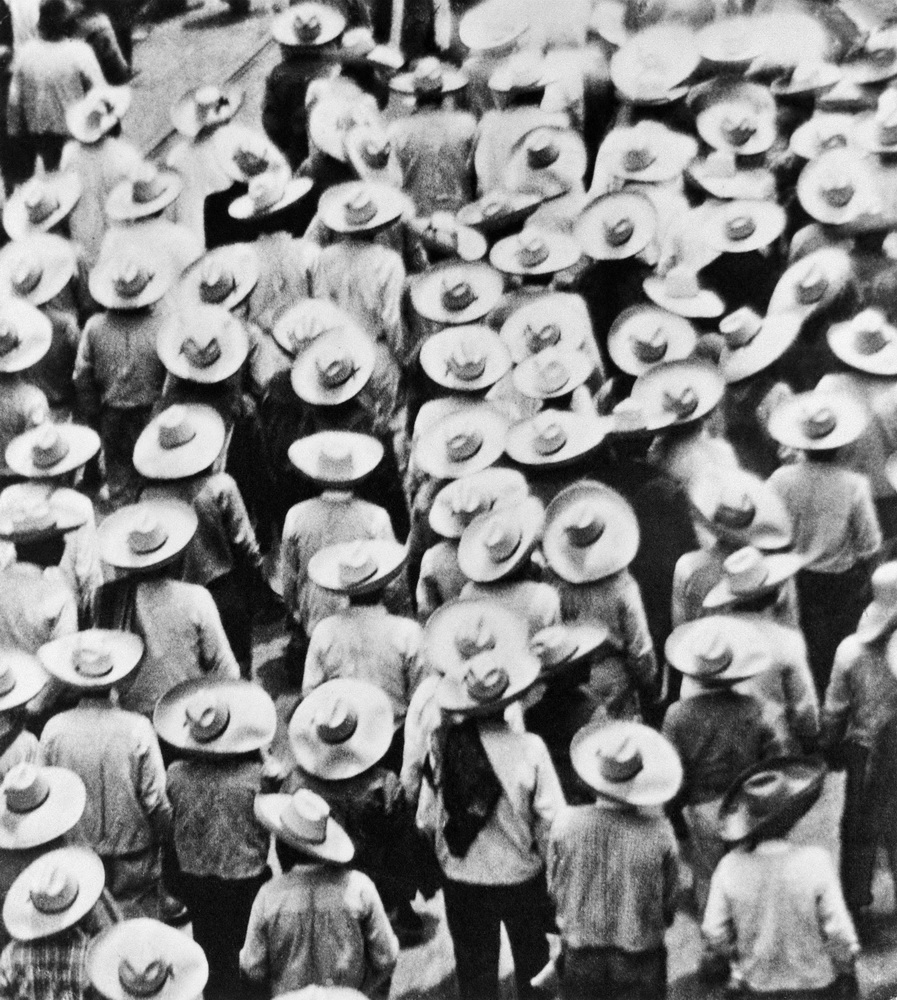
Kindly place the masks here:
[(85, 621), (103, 574), (93, 504), (73, 487), (79, 470), (100, 450), (99, 436), (79, 424), (47, 422), (13, 438), (6, 450), (10, 468), (24, 481), (0, 496), (23, 506), (49, 504), (56, 497), (83, 517), (81, 526), (66, 535), (59, 568), (77, 598), (79, 620)]

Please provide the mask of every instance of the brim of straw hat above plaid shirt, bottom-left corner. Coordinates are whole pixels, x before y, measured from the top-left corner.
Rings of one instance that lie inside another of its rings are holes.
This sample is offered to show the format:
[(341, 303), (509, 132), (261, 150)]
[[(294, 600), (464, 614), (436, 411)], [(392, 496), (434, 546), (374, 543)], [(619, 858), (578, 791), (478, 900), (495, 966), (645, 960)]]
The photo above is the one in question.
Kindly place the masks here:
[[(65, 858), (78, 879), (78, 895), (61, 913), (41, 913), (31, 902), (29, 889), (34, 869)], [(106, 882), (103, 862), (86, 847), (63, 847), (32, 862), (10, 886), (3, 903), (3, 923), (16, 941), (36, 941), (74, 926), (96, 905)]]

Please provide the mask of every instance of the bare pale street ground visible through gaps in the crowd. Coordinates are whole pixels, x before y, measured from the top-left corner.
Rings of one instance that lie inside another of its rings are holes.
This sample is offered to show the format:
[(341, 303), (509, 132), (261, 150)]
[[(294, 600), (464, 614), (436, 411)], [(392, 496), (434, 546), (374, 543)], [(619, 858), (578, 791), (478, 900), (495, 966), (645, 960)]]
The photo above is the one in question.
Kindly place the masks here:
[[(125, 120), (125, 134), (146, 153), (164, 149), (170, 142), (169, 109), (176, 98), (190, 87), (205, 82), (238, 82), (246, 89), (240, 118), (258, 122), (264, 78), (278, 61), (277, 46), (268, 32), (270, 13), (263, 0), (253, 0), (251, 13), (233, 18), (219, 0), (207, 0), (205, 6), (186, 15), (148, 26), (147, 37), (136, 47), (135, 65), (139, 71), (134, 81), (134, 101)], [(866, 10), (886, 7), (892, 0), (852, 0)], [(296, 704), (298, 692), (292, 690), (281, 663), (283, 640), (272, 619), (259, 623), (254, 670), (257, 678), (276, 698), (281, 732), (279, 749), (286, 753), (285, 724)], [(837, 851), (838, 822), (843, 797), (843, 779), (829, 778), (822, 799), (801, 822), (799, 835), (808, 842)], [(897, 997), (897, 917), (892, 915), (894, 898), (890, 880), (880, 872), (876, 881), (877, 902), (869, 941), (860, 961), (862, 996), (866, 1000), (892, 1000)], [(428, 940), (419, 948), (404, 951), (393, 980), (391, 996), (409, 998), (454, 998), (457, 995), (453, 976), (451, 941), (445, 928), (439, 898), (431, 904), (417, 904), (426, 913)], [(713, 998), (695, 976), (700, 954), (695, 919), (682, 913), (668, 937), (672, 1000)], [(510, 961), (505, 954), (503, 969)], [(506, 982), (507, 994), (512, 987)]]

